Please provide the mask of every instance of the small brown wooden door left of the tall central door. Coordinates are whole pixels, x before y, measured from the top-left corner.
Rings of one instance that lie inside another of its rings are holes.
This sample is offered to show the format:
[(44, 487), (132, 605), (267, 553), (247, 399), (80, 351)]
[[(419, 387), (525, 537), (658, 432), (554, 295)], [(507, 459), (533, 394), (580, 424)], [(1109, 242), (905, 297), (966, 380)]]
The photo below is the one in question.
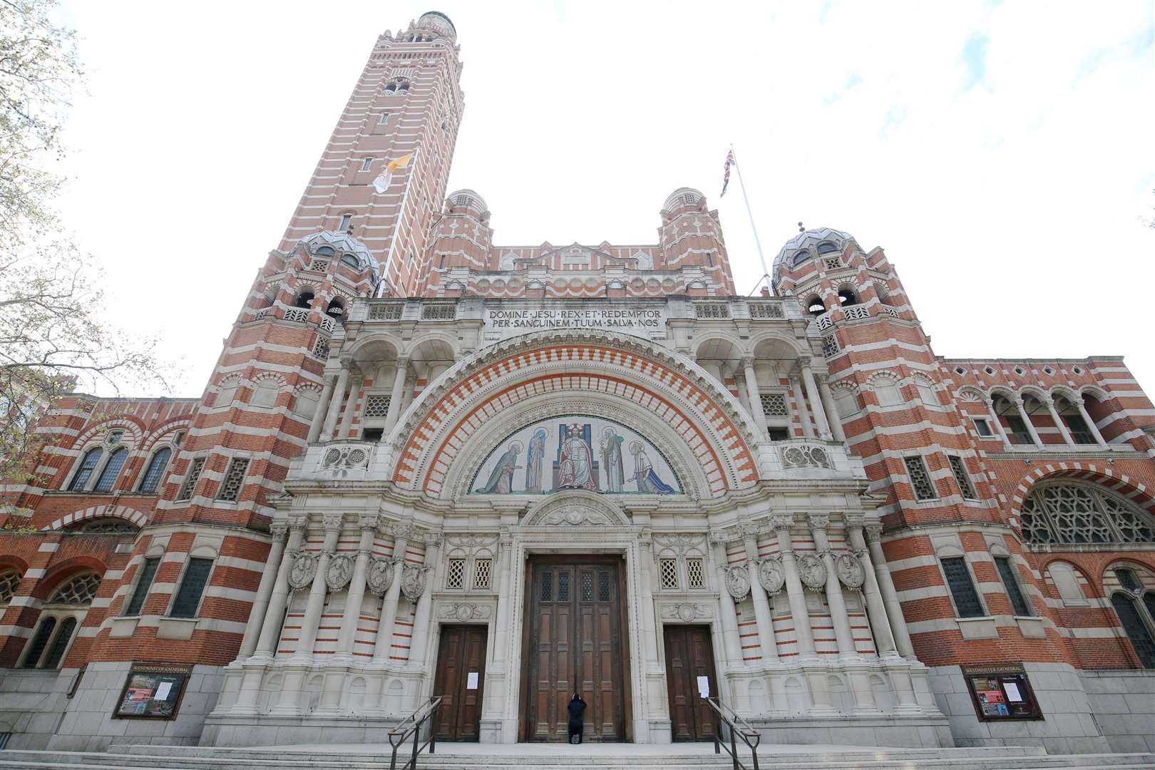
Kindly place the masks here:
[(477, 741), (485, 688), (485, 626), (442, 626), (433, 695), (441, 695), (439, 741)]

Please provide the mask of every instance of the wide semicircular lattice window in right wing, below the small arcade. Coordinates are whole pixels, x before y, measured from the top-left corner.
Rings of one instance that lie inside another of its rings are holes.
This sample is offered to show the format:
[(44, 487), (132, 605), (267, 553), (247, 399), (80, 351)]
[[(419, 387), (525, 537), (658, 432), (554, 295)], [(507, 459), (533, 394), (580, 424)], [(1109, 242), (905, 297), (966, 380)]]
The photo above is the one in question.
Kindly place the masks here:
[(1155, 541), (1155, 523), (1134, 503), (1081, 481), (1037, 484), (1019, 518), (1028, 543)]

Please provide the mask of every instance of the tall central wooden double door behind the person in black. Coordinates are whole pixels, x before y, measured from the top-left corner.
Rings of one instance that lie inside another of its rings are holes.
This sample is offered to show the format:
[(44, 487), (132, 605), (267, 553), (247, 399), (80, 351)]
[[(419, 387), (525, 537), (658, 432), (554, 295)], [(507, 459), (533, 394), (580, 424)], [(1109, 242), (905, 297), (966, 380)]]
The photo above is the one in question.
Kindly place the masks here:
[(531, 561), (522, 666), (522, 735), (568, 740), (569, 700), (586, 701), (584, 741), (629, 739), (620, 560)]

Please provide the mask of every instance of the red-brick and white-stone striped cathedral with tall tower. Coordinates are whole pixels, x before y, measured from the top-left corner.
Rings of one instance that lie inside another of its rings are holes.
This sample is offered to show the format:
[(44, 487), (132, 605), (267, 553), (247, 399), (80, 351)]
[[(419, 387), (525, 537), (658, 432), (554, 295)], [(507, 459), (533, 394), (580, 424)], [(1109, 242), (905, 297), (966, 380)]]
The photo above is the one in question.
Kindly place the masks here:
[[(703, 740), (1155, 750), (1155, 409), (946, 359), (880, 248), (736, 293), (716, 210), (494, 242), (453, 23), (377, 40), (198, 398), (74, 394), (2, 487), (27, 748)], [(960, 314), (962, 308), (960, 307)]]

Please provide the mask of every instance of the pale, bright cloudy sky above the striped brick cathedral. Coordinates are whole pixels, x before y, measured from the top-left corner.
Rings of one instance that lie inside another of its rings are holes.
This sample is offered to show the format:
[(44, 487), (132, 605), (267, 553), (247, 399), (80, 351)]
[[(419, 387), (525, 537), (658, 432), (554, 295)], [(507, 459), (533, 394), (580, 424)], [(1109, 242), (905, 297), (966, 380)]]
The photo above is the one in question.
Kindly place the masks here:
[(740, 293), (830, 226), (896, 266), (948, 358), (1123, 354), (1155, 393), (1155, 3), (66, 2), (88, 94), (60, 202), (109, 313), (198, 396), (377, 35), (446, 13), (449, 189), (498, 244), (656, 242), (679, 186)]

